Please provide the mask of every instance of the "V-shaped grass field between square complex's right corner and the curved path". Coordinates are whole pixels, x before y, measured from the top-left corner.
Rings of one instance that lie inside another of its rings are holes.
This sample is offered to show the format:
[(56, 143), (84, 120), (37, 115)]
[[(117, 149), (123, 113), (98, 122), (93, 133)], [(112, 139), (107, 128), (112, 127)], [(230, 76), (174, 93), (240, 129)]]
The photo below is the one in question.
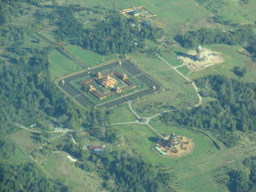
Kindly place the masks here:
[(131, 58), (137, 67), (148, 73), (158, 81), (163, 90), (160, 93), (145, 96), (134, 103), (137, 112), (143, 116), (148, 116), (163, 110), (163, 107), (179, 107), (195, 105), (198, 97), (191, 84), (188, 84), (178, 73), (172, 70), (165, 62), (156, 57), (147, 55), (134, 55)]

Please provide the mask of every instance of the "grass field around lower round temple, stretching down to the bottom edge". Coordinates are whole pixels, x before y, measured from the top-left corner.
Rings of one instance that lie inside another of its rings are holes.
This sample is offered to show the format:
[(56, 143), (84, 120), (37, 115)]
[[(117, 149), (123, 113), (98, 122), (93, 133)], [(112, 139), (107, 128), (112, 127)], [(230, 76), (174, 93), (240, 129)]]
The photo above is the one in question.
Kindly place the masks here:
[(194, 152), (178, 159), (158, 156), (151, 149), (156, 140), (154, 132), (144, 125), (117, 125), (116, 128), (124, 137), (125, 144), (122, 147), (137, 150), (144, 160), (169, 169), (174, 175), (172, 183), (176, 185), (177, 191), (228, 191), (225, 185), (214, 183), (212, 174), (219, 167), (229, 166), (231, 169), (237, 169), (241, 166), (232, 150), (227, 148), (217, 150), (207, 137), (193, 131), (169, 127), (158, 121), (154, 121), (151, 125), (166, 135), (174, 131), (178, 135), (192, 138), (195, 142)]

